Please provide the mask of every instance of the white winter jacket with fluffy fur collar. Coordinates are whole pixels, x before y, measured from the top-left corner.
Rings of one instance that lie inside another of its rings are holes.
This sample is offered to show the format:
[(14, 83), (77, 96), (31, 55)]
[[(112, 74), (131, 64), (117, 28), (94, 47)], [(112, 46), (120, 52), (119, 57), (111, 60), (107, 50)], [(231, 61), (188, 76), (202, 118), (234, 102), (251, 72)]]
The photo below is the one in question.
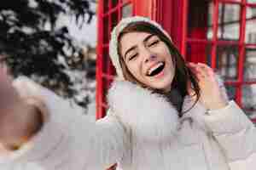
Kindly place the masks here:
[[(90, 122), (79, 108), (25, 77), (22, 96), (44, 101), (44, 126), (27, 144), (2, 152), (1, 170), (254, 170), (256, 133), (234, 101), (206, 111), (199, 103), (178, 118), (166, 99), (115, 81), (108, 116)], [(186, 97), (183, 111), (192, 105)]]

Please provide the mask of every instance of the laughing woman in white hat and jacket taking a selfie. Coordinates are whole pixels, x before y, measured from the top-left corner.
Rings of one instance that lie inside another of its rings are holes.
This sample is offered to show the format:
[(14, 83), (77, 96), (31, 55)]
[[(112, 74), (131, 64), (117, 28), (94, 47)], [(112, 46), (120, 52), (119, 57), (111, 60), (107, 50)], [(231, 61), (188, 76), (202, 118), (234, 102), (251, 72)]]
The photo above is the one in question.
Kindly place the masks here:
[(211, 68), (185, 64), (157, 23), (120, 21), (110, 56), (119, 78), (108, 91), (108, 116), (96, 123), (25, 77), (15, 80), (20, 98), (42, 113), (43, 125), (34, 123), (36, 133), (3, 154), (0, 167), (82, 170), (118, 162), (123, 170), (254, 168), (253, 123), (228, 101)]

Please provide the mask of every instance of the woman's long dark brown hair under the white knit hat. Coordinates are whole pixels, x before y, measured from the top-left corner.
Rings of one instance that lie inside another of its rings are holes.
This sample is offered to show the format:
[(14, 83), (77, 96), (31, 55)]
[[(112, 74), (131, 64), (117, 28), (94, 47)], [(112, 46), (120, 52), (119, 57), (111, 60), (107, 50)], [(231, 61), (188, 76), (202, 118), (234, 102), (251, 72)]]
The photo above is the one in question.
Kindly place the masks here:
[[(166, 37), (166, 35), (162, 31), (160, 31), (160, 29), (157, 28), (156, 26), (153, 26), (147, 22), (138, 21), (138, 22), (134, 22), (134, 23), (131, 23), (130, 25), (126, 26), (125, 29), (119, 33), (119, 37), (118, 37), (119, 41), (118, 42), (120, 42), (121, 37), (123, 37), (126, 33), (135, 32), (135, 31), (147, 32), (147, 33), (156, 35), (157, 37), (160, 38), (160, 40), (162, 42), (166, 43), (167, 47), (170, 50), (170, 53), (172, 54), (173, 64), (175, 65), (175, 75), (174, 75), (173, 81), (172, 81), (171, 92), (173, 89), (177, 89), (178, 94), (180, 94), (182, 97), (182, 104), (183, 104), (184, 97), (189, 94), (188, 90), (187, 90), (187, 84), (188, 84), (188, 82), (191, 82), (192, 87), (195, 90), (195, 95), (196, 95), (195, 103), (196, 103), (200, 97), (200, 88), (199, 88), (197, 79), (195, 77), (195, 74), (189, 69), (189, 67), (186, 66), (183, 56), (179, 53), (177, 48), (171, 42), (170, 38)], [(140, 86), (142, 86), (143, 88), (148, 88), (147, 85), (143, 84), (143, 82), (139, 82), (126, 67), (125, 61), (124, 61), (123, 57), (121, 57), (122, 55), (120, 53), (120, 43), (118, 44), (118, 54), (120, 56), (119, 63), (122, 67), (125, 79), (130, 82), (137, 83)], [(171, 92), (165, 93), (165, 92), (163, 92), (163, 90), (159, 90), (159, 89), (153, 89), (153, 91), (154, 91), (154, 93), (157, 93), (157, 94), (163, 94), (169, 102), (171, 102), (172, 104), (174, 103), (174, 101), (172, 101), (173, 99), (170, 95)], [(184, 112), (182, 113), (181, 109), (178, 109), (178, 108), (177, 108), (177, 111), (179, 111), (179, 116), (182, 116), (184, 113)], [(187, 111), (185, 111), (185, 112), (187, 112)]]

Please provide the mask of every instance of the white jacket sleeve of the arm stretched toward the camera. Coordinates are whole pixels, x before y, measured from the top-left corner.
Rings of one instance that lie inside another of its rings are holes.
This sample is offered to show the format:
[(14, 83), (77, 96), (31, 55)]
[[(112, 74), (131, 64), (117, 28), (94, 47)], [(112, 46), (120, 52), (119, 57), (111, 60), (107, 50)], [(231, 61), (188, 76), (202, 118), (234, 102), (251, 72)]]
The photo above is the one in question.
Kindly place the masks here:
[(78, 106), (72, 107), (26, 77), (15, 86), (27, 96), (43, 100), (48, 114), (44, 113), (41, 130), (19, 150), (2, 154), (0, 163), (30, 163), (55, 170), (106, 169), (124, 156), (127, 132), (115, 116), (91, 121)]

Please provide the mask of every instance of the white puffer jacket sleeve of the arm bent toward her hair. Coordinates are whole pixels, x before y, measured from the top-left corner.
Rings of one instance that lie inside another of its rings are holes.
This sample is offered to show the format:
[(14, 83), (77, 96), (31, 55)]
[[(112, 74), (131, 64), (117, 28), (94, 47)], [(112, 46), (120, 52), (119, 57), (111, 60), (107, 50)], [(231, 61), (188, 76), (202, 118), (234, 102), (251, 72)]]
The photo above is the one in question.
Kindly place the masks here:
[(256, 166), (256, 130), (234, 101), (208, 111), (205, 122), (224, 150), (231, 170), (253, 170)]

